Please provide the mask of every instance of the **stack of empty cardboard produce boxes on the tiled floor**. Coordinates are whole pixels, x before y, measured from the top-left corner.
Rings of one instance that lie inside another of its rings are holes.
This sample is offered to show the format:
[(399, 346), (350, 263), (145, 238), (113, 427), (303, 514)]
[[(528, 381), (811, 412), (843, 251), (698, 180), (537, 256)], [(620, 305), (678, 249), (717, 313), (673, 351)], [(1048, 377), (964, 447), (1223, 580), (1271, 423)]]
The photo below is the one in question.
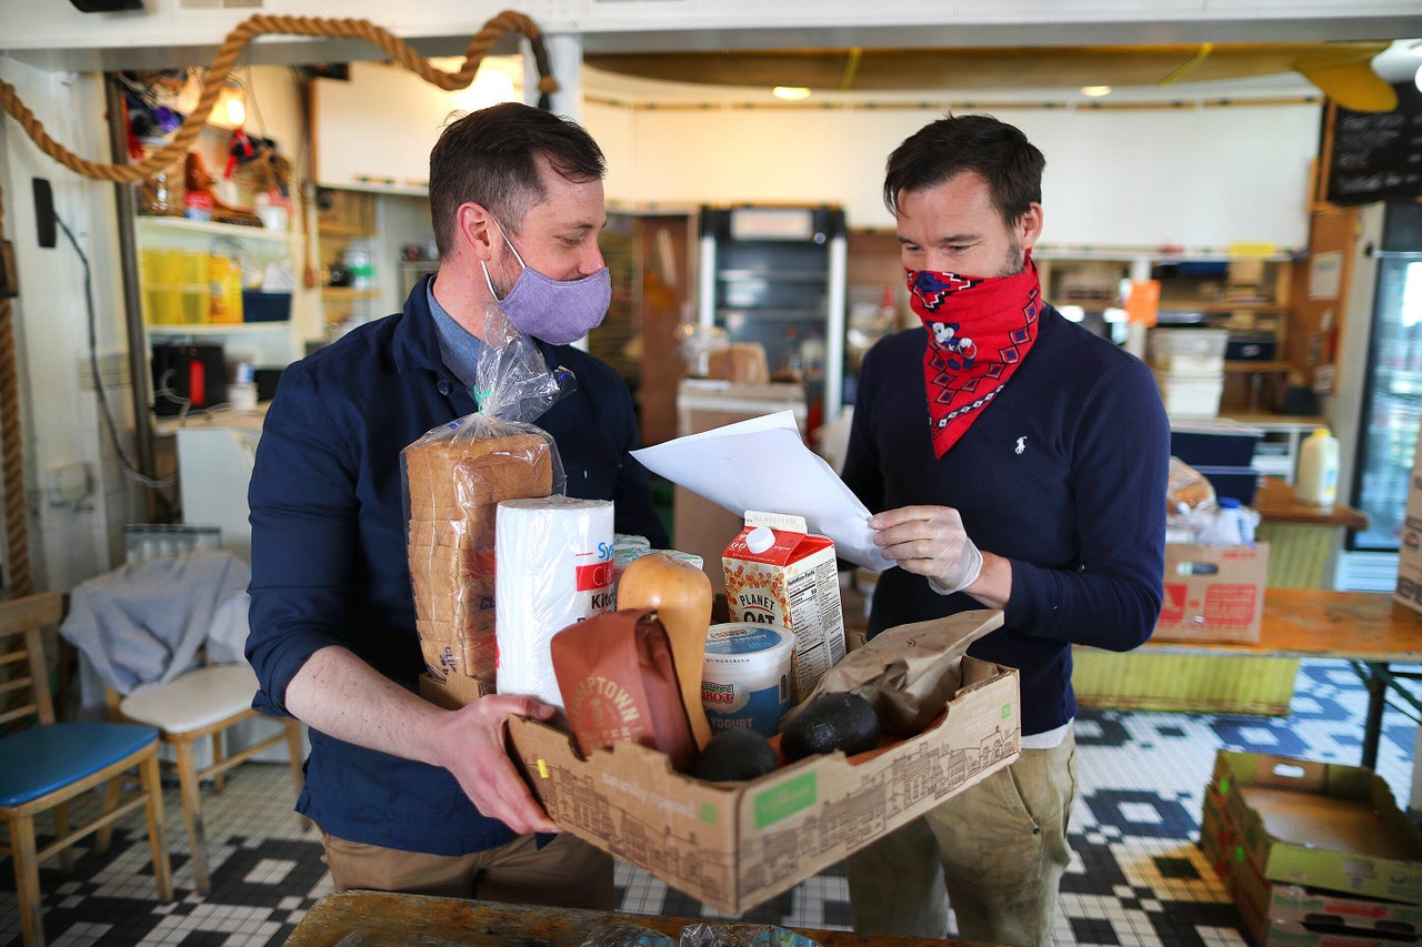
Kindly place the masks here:
[(1256, 947), (1422, 943), (1422, 835), (1369, 769), (1220, 751), (1200, 847)]

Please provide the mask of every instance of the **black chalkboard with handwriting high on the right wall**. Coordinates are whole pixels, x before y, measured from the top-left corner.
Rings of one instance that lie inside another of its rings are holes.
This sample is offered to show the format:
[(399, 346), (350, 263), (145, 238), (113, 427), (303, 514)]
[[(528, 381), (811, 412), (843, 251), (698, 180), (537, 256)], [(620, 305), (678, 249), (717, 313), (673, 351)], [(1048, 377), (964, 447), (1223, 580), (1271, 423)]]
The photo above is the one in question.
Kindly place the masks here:
[(1334, 109), (1328, 200), (1371, 203), (1422, 196), (1422, 91), (1396, 82), (1391, 112)]

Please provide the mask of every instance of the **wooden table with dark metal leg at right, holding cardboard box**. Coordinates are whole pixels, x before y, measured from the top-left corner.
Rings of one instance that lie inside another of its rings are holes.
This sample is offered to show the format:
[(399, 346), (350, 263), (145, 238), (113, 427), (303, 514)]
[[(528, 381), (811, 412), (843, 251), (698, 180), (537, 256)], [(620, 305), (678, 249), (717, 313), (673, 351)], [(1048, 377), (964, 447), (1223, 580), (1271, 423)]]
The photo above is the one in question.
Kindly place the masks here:
[(1368, 687), (1362, 765), (1369, 769), (1378, 764), (1388, 690), (1422, 711), (1411, 691), (1398, 685), (1399, 680), (1418, 675), (1392, 670), (1394, 664), (1422, 664), (1422, 614), (1396, 604), (1388, 592), (1266, 589), (1264, 617), (1254, 644), (1148, 641), (1136, 651), (1349, 661)]

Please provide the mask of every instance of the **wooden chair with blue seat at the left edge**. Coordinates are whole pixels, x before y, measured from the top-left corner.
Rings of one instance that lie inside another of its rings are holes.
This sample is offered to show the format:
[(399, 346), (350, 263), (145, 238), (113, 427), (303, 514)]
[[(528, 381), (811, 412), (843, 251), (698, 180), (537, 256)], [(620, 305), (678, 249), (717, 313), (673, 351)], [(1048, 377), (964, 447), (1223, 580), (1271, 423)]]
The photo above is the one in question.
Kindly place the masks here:
[[(94, 850), (108, 849), (114, 820), (144, 806), (152, 846), (158, 897), (171, 901), (172, 873), (164, 828), (164, 796), (158, 772), (158, 731), (105, 721), (55, 722), (48, 667), (40, 633), (60, 623), (64, 600), (44, 592), (0, 603), (0, 818), (10, 829), (0, 853), (14, 860), (20, 933), (27, 947), (44, 944), (40, 911), (40, 862), (60, 855), (73, 867), (75, 842), (95, 835)], [(18, 644), (13, 644), (18, 640)], [(138, 768), (141, 789), (125, 791), (122, 779)], [(105, 785), (98, 816), (74, 828), (68, 802)], [(53, 809), (55, 839), (37, 847), (34, 816)]]

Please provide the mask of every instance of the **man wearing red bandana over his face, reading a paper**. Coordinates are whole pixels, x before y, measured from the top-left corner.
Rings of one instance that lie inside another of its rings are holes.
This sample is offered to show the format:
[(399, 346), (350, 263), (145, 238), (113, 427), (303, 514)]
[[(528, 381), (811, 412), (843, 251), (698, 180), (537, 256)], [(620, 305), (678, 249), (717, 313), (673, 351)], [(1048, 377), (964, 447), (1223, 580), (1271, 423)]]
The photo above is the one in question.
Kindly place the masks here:
[[(896, 567), (869, 634), (973, 609), (1018, 668), (1022, 754), (849, 857), (860, 933), (1048, 944), (1076, 793), (1071, 648), (1128, 651), (1160, 614), (1170, 429), (1149, 368), (1042, 299), (1045, 159), (987, 115), (889, 158), (923, 321), (863, 360), (843, 479)], [(948, 909), (957, 930), (948, 931)]]

